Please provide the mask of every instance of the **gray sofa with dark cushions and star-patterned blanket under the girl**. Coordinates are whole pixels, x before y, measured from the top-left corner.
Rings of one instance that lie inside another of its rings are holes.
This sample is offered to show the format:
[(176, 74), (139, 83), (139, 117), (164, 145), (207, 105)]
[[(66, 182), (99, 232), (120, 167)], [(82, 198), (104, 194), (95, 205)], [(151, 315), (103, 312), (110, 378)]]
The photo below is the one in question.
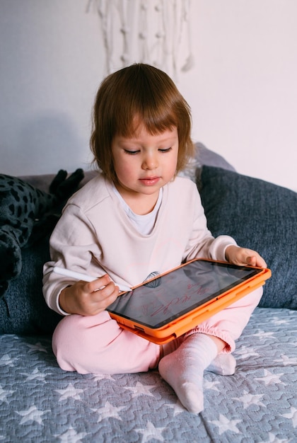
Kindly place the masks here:
[[(238, 340), (235, 374), (206, 371), (205, 408), (194, 415), (157, 371), (59, 369), (51, 334), (60, 317), (42, 297), (46, 236), (23, 249), (22, 273), (0, 300), (0, 442), (297, 441), (296, 192), (236, 173), (202, 144), (187, 173), (197, 180), (213, 234), (256, 249), (272, 270)], [(46, 189), (51, 177), (26, 179)]]

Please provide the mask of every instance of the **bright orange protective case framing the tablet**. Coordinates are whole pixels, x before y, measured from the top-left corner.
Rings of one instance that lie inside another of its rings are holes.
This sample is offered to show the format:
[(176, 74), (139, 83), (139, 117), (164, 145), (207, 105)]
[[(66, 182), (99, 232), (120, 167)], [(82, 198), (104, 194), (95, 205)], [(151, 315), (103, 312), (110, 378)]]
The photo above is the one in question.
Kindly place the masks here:
[[(173, 270), (164, 272), (163, 274), (157, 275), (151, 280), (147, 280), (146, 282), (133, 287), (132, 291), (138, 287), (147, 285), (148, 283), (151, 283), (154, 280), (158, 280), (161, 277), (168, 275), (170, 272), (175, 272), (175, 270), (178, 270), (181, 267), (185, 267), (190, 263), (194, 263), (197, 260), (202, 260), (204, 262), (208, 261), (211, 263), (222, 263), (223, 265), (226, 265), (226, 262), (219, 262), (216, 260), (209, 260), (209, 259), (198, 258), (190, 260), (189, 262), (183, 265), (175, 267)], [(238, 268), (238, 269), (243, 268), (240, 266), (237, 267), (235, 265), (231, 266), (233, 268)], [(112, 308), (112, 306), (114, 306), (116, 302), (108, 306), (107, 311), (109, 311), (110, 316), (112, 318), (115, 318), (115, 320), (120, 324), (120, 326), (122, 326), (122, 328), (130, 330), (132, 333), (137, 334), (142, 338), (146, 338), (146, 340), (150, 340), (153, 343), (162, 345), (164, 343), (168, 343), (170, 340), (180, 337), (180, 335), (194, 328), (199, 323), (202, 323), (202, 321), (205, 321), (207, 318), (213, 316), (215, 313), (221, 311), (222, 309), (225, 309), (226, 307), (235, 303), (235, 301), (241, 299), (242, 297), (245, 297), (245, 295), (254, 291), (258, 287), (261, 287), (265, 283), (265, 280), (271, 277), (271, 271), (267, 268), (250, 267), (250, 266), (245, 266), (244, 268), (260, 270), (260, 272), (248, 278), (248, 280), (236, 284), (235, 287), (228, 289), (221, 294), (216, 294), (214, 298), (206, 301), (204, 304), (190, 310), (187, 313), (183, 313), (178, 318), (169, 321), (167, 324), (161, 326), (160, 328), (151, 328), (141, 322), (136, 321), (135, 318), (134, 319), (126, 318), (118, 314), (117, 312), (115, 312), (115, 309)], [(122, 295), (120, 295), (120, 297), (122, 297)]]

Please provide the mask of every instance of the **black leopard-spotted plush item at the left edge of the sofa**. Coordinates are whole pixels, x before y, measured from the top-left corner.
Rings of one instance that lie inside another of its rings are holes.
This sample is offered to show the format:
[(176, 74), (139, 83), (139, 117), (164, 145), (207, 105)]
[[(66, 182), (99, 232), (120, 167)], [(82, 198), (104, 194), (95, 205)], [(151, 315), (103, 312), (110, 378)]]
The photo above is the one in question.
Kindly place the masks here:
[(61, 208), (76, 190), (83, 171), (66, 176), (66, 171), (59, 171), (47, 193), (20, 178), (0, 174), (0, 297), (21, 272), (21, 248), (28, 244), (34, 229), (35, 239), (45, 231), (42, 227), (53, 229), (59, 215), (53, 216), (52, 209)]

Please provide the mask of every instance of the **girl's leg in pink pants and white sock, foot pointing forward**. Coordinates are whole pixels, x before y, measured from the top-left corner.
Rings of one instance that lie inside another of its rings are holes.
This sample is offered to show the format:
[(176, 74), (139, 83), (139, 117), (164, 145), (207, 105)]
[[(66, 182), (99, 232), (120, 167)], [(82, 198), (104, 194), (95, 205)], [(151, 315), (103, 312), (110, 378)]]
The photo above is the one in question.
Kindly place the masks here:
[(204, 369), (221, 352), (232, 352), (262, 296), (262, 288), (243, 297), (185, 334), (185, 341), (159, 362), (163, 379), (192, 413), (203, 410)]

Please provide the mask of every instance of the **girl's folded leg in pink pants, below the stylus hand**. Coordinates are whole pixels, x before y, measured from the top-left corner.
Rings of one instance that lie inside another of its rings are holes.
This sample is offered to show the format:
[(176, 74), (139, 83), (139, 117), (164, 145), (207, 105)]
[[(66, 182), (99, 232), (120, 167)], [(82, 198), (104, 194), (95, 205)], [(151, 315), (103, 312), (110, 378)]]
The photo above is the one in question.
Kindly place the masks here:
[(52, 348), (59, 366), (80, 374), (146, 372), (157, 367), (160, 346), (118, 326), (107, 311), (97, 316), (66, 316)]

